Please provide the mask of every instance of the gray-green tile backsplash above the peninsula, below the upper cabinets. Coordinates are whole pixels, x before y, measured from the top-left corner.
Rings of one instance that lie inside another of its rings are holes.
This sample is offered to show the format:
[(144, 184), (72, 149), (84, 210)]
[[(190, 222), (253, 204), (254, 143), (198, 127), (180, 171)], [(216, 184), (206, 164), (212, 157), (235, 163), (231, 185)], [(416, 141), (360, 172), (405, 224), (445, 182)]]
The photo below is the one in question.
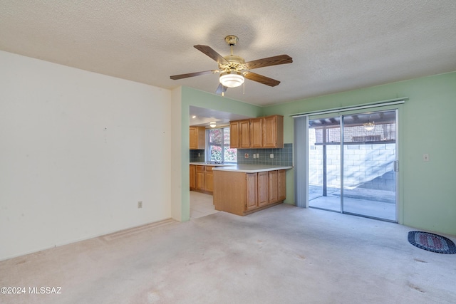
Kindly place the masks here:
[[(249, 158), (245, 158), (245, 154), (249, 154)], [(254, 154), (259, 157), (254, 158)], [(270, 154), (274, 154), (274, 158), (270, 158)], [(292, 166), (293, 144), (284, 144), (284, 147), (279, 149), (238, 149), (237, 163)]]

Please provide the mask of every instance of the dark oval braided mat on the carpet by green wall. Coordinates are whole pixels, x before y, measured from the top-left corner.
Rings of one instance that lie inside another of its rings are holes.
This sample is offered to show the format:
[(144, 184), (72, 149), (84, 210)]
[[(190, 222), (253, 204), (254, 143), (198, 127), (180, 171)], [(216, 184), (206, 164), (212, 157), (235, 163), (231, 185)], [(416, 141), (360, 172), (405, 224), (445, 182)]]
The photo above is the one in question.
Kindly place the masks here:
[(423, 231), (410, 231), (408, 241), (418, 248), (437, 253), (456, 253), (456, 246), (450, 239)]

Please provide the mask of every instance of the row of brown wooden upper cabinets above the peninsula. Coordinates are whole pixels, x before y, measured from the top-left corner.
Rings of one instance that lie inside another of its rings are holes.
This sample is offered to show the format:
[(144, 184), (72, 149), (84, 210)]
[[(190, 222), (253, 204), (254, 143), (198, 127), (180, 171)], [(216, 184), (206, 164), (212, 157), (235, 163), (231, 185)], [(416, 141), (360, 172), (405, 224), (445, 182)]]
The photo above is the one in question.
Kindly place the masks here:
[(271, 115), (229, 122), (232, 148), (283, 148), (284, 117)]

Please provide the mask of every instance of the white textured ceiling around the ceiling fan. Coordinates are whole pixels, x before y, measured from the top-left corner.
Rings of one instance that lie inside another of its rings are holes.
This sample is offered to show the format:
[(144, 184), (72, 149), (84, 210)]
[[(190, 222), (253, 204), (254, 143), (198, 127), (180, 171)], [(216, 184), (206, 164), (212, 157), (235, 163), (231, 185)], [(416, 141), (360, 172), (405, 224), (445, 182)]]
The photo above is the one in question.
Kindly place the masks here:
[(214, 93), (218, 75), (193, 48), (254, 59), (288, 54), (293, 63), (255, 73), (227, 97), (272, 105), (456, 70), (455, 0), (17, 1), (0, 0), (0, 50), (161, 88)]

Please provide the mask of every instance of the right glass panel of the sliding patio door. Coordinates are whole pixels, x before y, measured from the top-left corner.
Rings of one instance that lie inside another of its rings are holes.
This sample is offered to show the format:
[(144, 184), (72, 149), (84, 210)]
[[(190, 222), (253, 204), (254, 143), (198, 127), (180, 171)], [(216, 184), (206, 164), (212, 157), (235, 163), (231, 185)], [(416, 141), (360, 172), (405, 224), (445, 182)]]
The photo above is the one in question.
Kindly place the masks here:
[(343, 116), (343, 212), (396, 221), (396, 111)]

